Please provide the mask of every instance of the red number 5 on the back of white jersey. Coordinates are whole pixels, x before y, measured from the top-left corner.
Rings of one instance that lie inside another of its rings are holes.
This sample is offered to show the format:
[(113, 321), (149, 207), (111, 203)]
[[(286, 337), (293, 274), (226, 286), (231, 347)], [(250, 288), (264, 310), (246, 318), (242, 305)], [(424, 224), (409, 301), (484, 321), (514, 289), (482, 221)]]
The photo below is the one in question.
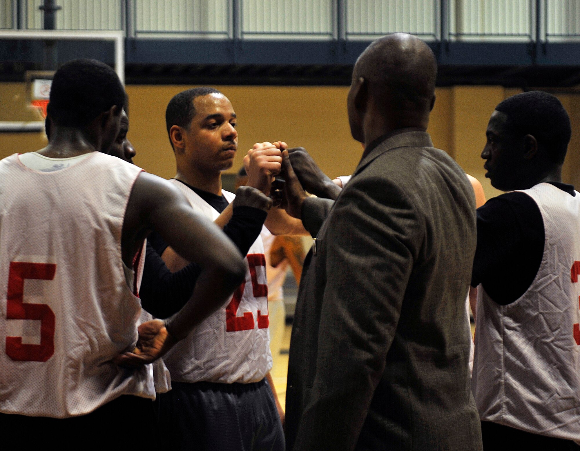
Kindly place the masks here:
[(22, 337), (6, 337), (6, 354), (12, 360), (46, 362), (55, 352), (55, 313), (46, 304), (24, 303), (24, 279), (52, 281), (56, 264), (11, 261), (8, 272), (6, 319), (39, 319), (40, 344), (24, 344)]

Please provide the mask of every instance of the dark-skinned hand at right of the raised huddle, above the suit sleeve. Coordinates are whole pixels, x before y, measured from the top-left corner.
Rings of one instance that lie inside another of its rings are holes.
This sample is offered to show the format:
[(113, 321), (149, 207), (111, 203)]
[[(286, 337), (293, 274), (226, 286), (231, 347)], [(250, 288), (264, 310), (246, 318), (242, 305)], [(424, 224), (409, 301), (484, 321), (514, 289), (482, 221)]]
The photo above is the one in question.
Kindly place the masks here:
[(318, 167), (303, 147), (288, 150), (292, 168), (304, 189), (325, 199), (336, 199), (340, 188)]

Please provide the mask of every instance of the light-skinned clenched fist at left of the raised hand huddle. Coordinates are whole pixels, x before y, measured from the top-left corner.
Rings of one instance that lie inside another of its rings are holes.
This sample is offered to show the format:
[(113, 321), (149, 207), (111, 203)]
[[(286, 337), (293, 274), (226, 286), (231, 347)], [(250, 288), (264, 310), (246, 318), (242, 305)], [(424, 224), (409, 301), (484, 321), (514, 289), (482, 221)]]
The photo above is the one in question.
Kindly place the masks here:
[[(276, 143), (277, 144), (277, 143)], [(255, 144), (255, 147), (248, 151), (248, 186), (258, 188), (264, 194), (270, 194), (272, 179), (282, 168), (282, 153), (276, 144), (262, 143)], [(245, 166), (244, 161), (244, 166)]]

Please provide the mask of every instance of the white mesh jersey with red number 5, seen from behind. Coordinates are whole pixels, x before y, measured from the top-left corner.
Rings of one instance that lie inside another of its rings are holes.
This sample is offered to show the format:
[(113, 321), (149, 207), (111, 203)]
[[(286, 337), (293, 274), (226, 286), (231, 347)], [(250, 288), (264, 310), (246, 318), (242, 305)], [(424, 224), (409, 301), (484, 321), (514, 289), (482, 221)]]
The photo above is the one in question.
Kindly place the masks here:
[(137, 340), (121, 229), (141, 170), (99, 152), (55, 172), (0, 161), (0, 412), (63, 418), (155, 398), (151, 365), (111, 362)]

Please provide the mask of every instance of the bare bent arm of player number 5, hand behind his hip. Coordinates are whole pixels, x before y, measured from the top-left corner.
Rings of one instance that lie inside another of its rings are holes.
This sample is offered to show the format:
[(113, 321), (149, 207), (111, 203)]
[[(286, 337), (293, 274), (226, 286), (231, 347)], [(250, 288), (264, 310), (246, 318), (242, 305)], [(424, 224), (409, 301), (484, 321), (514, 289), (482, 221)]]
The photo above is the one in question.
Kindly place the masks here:
[(153, 362), (176, 341), (222, 307), (244, 279), (242, 256), (211, 221), (193, 212), (182, 193), (166, 180), (141, 173), (131, 192), (121, 239), (126, 264), (132, 263), (136, 243), (151, 231), (189, 261), (202, 268), (190, 301), (165, 322), (153, 320), (139, 327), (139, 341), (133, 352), (115, 359), (124, 366)]

